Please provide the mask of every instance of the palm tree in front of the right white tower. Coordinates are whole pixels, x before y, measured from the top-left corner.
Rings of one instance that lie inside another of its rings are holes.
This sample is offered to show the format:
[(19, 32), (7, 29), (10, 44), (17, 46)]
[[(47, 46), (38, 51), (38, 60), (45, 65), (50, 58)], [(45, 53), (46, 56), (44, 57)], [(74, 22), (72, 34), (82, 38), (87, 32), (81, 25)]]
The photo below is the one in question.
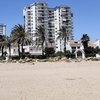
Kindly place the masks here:
[(69, 31), (66, 27), (62, 26), (60, 28), (57, 39), (62, 39), (64, 41), (64, 53), (66, 53), (66, 44), (69, 40)]

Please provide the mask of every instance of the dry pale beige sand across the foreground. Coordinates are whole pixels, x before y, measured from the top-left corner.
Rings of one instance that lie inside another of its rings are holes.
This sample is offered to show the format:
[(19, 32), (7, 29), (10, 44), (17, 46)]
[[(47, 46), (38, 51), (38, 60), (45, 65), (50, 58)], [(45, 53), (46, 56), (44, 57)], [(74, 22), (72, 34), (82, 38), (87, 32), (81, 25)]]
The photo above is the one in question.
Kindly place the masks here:
[(100, 62), (0, 63), (0, 100), (100, 100)]

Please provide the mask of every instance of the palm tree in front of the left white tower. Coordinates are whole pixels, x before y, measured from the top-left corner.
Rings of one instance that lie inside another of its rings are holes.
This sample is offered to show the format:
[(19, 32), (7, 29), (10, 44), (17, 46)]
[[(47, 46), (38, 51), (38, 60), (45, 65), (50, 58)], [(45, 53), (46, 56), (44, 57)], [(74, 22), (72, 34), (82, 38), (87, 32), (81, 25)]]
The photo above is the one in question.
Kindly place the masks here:
[(36, 44), (37, 45), (41, 45), (42, 47), (42, 55), (44, 55), (44, 43), (46, 41), (46, 38), (45, 38), (45, 29), (43, 26), (38, 26), (37, 30), (36, 30), (36, 33), (35, 33), (35, 37), (36, 37), (36, 40), (35, 42), (37, 42)]

